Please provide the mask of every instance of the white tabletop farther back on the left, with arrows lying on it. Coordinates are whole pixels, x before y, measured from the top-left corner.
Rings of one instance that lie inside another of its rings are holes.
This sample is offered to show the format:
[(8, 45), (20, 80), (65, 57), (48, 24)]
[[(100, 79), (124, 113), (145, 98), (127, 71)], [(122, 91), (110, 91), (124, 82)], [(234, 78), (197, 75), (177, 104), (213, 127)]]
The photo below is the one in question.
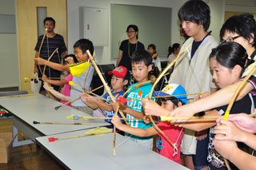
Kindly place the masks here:
[[(74, 121), (66, 119), (71, 114), (90, 116), (69, 106), (62, 106), (58, 110), (54, 108), (61, 105), (48, 97), (37, 94), (32, 97), (11, 97), (0, 99), (0, 105), (10, 110), (14, 115), (25, 121), (27, 125), (36, 128), (44, 135), (58, 134), (62, 132), (72, 132), (76, 130), (94, 128), (98, 126), (110, 125), (103, 120)], [(33, 121), (39, 122), (59, 122), (59, 123), (93, 123), (94, 125), (34, 125)], [(26, 132), (25, 132), (26, 133)]]

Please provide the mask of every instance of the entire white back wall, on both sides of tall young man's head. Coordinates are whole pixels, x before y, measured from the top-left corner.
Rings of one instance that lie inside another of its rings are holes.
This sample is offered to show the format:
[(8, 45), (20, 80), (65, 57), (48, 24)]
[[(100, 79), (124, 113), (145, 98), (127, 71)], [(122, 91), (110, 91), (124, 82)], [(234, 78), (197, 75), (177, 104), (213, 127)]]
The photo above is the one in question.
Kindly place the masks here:
[[(172, 8), (172, 30), (171, 30), (171, 42), (170, 45), (174, 42), (183, 42), (183, 39), (180, 38), (178, 32), (178, 10), (186, 0), (67, 0), (67, 14), (68, 14), (68, 50), (69, 53), (73, 53), (73, 45), (79, 39), (79, 6), (88, 6), (88, 7), (101, 7), (106, 8), (110, 11), (111, 3), (118, 4), (127, 4), (127, 5), (138, 5), (138, 6), (161, 6), (161, 7), (170, 7)], [(218, 39), (218, 34), (220, 26), (224, 21), (224, 0), (206, 0), (206, 3), (209, 4), (211, 9), (211, 26), (210, 30), (213, 30), (213, 35)], [(109, 13), (110, 14), (110, 13)], [(109, 16), (109, 30), (111, 26), (111, 18)], [(125, 30), (124, 30), (125, 31)], [(110, 36), (109, 31), (109, 36)], [(98, 63), (100, 64), (109, 64), (114, 63), (115, 60), (110, 57), (111, 54), (111, 36), (109, 37), (109, 45), (104, 47), (96, 47), (96, 55), (98, 58)], [(162, 58), (166, 60), (166, 58)]]

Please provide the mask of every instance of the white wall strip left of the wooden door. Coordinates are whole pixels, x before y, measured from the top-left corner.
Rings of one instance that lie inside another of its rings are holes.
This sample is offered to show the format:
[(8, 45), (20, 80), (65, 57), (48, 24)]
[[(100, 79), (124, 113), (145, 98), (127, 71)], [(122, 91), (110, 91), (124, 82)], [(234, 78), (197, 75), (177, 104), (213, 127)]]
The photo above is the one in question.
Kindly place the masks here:
[[(14, 0), (0, 0), (0, 14), (15, 15), (14, 4)], [(17, 87), (18, 70), (17, 34), (0, 33), (0, 88)]]

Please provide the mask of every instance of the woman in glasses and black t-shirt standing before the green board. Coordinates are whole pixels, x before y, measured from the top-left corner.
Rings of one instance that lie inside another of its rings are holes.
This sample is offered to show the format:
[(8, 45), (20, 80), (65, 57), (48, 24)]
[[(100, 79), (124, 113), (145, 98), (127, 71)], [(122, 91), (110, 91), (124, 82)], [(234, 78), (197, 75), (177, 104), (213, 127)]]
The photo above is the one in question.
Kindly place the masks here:
[(141, 42), (138, 42), (138, 26), (128, 26), (126, 33), (129, 39), (122, 41), (119, 47), (116, 67), (122, 65), (131, 71), (130, 57), (135, 51), (144, 50), (145, 47)]

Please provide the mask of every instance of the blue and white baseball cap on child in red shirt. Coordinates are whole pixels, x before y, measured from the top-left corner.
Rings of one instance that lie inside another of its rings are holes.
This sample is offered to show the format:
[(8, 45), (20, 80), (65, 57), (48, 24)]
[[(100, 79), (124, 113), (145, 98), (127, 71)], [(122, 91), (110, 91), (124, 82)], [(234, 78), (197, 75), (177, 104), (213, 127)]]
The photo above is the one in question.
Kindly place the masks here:
[[(186, 94), (186, 90), (182, 87), (182, 85), (177, 85), (174, 83), (170, 83), (169, 85), (166, 85), (166, 87), (164, 89), (162, 89), (162, 91), (154, 92), (155, 97), (181, 95), (181, 94)], [(175, 98), (178, 98), (178, 100), (180, 100), (186, 104), (186, 96), (178, 96)]]

